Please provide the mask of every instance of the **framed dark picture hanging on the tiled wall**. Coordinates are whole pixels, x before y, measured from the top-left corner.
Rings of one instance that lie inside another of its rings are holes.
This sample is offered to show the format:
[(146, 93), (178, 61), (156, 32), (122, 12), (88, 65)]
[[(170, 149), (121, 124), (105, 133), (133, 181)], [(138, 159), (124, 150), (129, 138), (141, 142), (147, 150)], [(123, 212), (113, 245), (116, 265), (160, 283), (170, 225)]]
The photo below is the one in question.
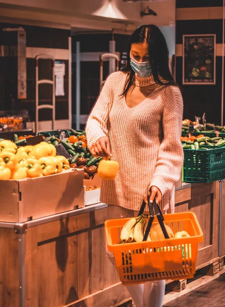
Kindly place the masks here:
[(183, 84), (216, 84), (216, 35), (183, 35)]

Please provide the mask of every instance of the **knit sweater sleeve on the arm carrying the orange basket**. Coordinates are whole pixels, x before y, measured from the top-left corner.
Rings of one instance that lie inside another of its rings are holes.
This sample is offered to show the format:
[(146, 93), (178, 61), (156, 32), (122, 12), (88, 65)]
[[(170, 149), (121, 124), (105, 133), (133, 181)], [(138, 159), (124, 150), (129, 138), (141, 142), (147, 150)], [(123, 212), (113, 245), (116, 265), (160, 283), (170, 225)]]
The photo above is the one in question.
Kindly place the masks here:
[(163, 140), (161, 142), (156, 169), (149, 187), (156, 186), (162, 195), (171, 190), (179, 180), (183, 164), (181, 126), (183, 99), (177, 86), (168, 88), (163, 110)]

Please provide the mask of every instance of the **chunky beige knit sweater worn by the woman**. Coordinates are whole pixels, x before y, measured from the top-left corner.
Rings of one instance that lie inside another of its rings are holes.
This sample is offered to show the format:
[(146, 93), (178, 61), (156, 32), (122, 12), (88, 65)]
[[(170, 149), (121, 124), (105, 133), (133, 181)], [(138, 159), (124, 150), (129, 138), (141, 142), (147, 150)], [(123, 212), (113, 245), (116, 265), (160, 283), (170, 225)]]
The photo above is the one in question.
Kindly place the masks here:
[[(174, 211), (174, 183), (183, 163), (181, 125), (183, 101), (177, 86), (159, 85), (140, 104), (129, 108), (124, 95), (127, 73), (111, 74), (92, 109), (86, 126), (88, 147), (107, 136), (112, 160), (119, 162), (114, 181), (103, 181), (101, 201), (139, 210), (151, 186), (163, 195), (161, 209)], [(155, 83), (139, 78), (141, 86)]]

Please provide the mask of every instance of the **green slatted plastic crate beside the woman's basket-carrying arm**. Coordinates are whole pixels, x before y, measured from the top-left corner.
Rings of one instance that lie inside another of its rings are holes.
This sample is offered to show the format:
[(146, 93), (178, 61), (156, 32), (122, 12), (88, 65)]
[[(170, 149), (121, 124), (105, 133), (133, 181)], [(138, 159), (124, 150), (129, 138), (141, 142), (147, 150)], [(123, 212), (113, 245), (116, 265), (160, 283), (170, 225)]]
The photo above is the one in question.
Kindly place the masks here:
[(208, 183), (225, 179), (225, 147), (184, 149), (184, 182)]

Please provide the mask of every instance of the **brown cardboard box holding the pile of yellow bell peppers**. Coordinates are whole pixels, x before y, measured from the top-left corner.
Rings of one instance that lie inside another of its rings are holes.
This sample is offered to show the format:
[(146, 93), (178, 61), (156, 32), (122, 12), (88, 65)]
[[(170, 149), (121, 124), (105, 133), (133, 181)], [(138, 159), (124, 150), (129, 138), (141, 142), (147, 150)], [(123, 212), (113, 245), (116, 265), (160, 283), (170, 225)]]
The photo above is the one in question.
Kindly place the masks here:
[(84, 170), (21, 180), (2, 180), (0, 221), (22, 223), (84, 207)]

